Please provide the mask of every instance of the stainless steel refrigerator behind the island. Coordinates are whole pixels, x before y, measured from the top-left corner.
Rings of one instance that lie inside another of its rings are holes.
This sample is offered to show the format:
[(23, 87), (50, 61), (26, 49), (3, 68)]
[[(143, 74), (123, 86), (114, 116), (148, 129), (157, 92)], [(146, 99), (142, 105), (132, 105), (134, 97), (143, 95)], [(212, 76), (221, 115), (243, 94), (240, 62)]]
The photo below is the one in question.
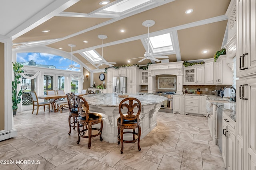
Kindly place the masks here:
[(113, 77), (113, 92), (126, 93), (126, 77)]

